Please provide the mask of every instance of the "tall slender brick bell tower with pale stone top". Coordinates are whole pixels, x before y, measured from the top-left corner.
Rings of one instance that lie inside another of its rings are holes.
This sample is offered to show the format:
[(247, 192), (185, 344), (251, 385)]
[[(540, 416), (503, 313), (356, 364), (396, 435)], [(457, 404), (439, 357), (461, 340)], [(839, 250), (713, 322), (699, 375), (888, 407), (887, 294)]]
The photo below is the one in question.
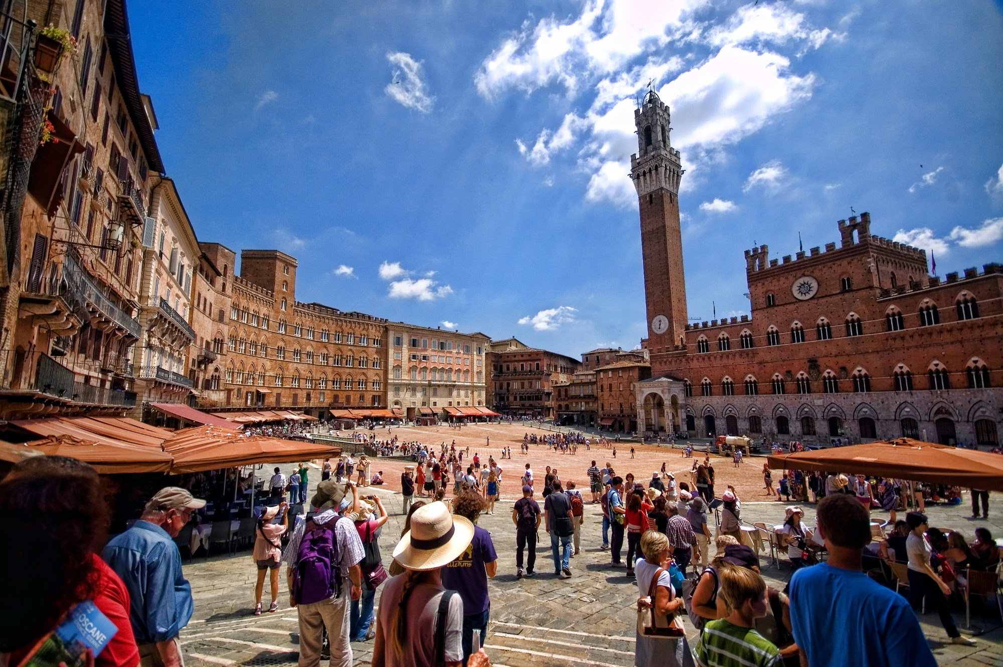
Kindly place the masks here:
[(648, 345), (654, 352), (685, 342), (687, 312), (679, 229), (679, 151), (669, 144), (669, 107), (654, 91), (634, 110), (637, 153), (631, 179), (641, 213)]

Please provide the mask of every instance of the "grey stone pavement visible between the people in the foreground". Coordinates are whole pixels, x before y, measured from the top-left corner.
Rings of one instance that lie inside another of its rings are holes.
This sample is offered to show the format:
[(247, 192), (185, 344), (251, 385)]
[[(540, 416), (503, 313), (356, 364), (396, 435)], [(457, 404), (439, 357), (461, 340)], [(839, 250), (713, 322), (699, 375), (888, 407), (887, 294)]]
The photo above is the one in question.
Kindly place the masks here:
[[(578, 458), (584, 459), (581, 453)], [(557, 457), (563, 458), (560, 454)], [(761, 466), (759, 460), (751, 459), (749, 473)], [(270, 467), (268, 465), (266, 469)], [(311, 475), (311, 491), (319, 476), (319, 471)], [(371, 488), (384, 499), (391, 514), (380, 544), (384, 564), (389, 564), (403, 522), (401, 496), (389, 489)], [(1000, 494), (993, 494), (988, 522), (970, 521), (967, 518), (967, 503), (960, 508), (928, 507), (928, 514), (932, 525), (960, 530), (969, 539), (978, 526), (986, 526), (994, 536), (1003, 536), (1001, 497)], [(965, 499), (968, 499), (967, 493)], [(583, 553), (571, 561), (573, 577), (562, 581), (552, 574), (549, 536), (543, 531), (541, 537), (546, 541), (547, 548), (537, 552), (539, 574), (533, 579), (516, 578), (512, 505), (512, 501), (498, 503), (493, 516), (482, 516), (478, 521), (479, 526), (490, 532), (498, 553), (497, 576), (488, 585), (490, 623), (487, 636), (482, 640), (491, 663), (511, 667), (632, 665), (637, 586), (624, 575), (624, 570), (614, 570), (605, 565), (610, 557), (609, 552), (599, 549), (602, 543), (602, 512), (599, 506), (586, 504)], [(776, 502), (746, 502), (742, 515), (747, 521), (778, 524), (783, 520), (785, 506), (785, 503)], [(805, 505), (804, 509), (805, 523), (813, 525), (813, 506)], [(778, 569), (765, 555), (761, 564), (763, 576), (770, 585), (782, 588), (790, 576), (789, 566), (781, 564)], [(279, 611), (260, 617), (252, 614), (256, 568), (250, 550), (239, 552), (236, 556), (214, 556), (208, 560), (197, 558), (193, 563), (186, 563), (185, 575), (192, 582), (195, 597), (195, 616), (181, 636), (185, 660), (190, 667), (287, 667), (296, 663), (296, 611), (289, 608), (284, 571), (280, 577)], [(847, 594), (853, 595), (853, 592), (848, 591)], [(377, 607), (379, 595), (377, 592)], [(266, 609), (268, 601), (266, 583)], [(939, 664), (957, 667), (1003, 665), (1003, 630), (1000, 629), (995, 607), (989, 611), (987, 617), (980, 617), (978, 613), (973, 616), (973, 625), (989, 630), (978, 637), (975, 647), (949, 644), (936, 614), (928, 613), (921, 617), (923, 630)], [(956, 612), (955, 620), (959, 628), (964, 626), (964, 611)], [(688, 620), (686, 624), (689, 627)], [(695, 644), (695, 635), (691, 628), (691, 645)], [(355, 664), (368, 664), (372, 641), (353, 643), (352, 647)]]

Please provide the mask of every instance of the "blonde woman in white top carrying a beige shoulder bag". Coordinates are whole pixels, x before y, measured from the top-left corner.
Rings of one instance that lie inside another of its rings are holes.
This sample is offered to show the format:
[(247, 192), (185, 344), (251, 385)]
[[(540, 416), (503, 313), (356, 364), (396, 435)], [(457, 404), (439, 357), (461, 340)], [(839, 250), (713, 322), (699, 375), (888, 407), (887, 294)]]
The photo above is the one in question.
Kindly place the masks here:
[[(654, 627), (681, 629), (678, 616), (685, 607), (669, 576), (668, 538), (656, 531), (646, 532), (641, 537), (641, 553), (644, 558), (637, 562), (637, 590), (640, 598), (647, 598), (647, 606), (654, 609)], [(663, 639), (635, 630), (635, 667), (692, 667), (693, 654), (685, 636)]]

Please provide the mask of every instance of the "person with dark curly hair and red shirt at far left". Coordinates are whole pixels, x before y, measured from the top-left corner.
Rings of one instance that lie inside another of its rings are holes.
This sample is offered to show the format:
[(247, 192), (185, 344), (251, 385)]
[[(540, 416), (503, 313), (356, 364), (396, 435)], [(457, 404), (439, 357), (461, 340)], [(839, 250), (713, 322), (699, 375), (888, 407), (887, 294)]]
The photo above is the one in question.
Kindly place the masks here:
[[(9, 536), (17, 536), (0, 542), (3, 662), (21, 663), (70, 608), (90, 600), (116, 632), (100, 653), (88, 651), (85, 662), (92, 659), (93, 667), (139, 664), (128, 590), (94, 551), (109, 522), (94, 468), (64, 456), (32, 456), (14, 464), (0, 481), (0, 518)], [(163, 610), (164, 620), (175, 611)], [(153, 617), (161, 613), (150, 612)]]

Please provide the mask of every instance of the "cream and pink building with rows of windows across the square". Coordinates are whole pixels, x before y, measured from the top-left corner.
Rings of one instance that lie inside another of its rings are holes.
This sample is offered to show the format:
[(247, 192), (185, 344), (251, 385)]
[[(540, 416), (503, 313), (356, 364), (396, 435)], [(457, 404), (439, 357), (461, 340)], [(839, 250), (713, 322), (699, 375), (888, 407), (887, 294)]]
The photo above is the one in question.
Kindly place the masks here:
[(395, 412), (414, 419), (442, 414), (446, 407), (485, 404), (487, 336), (403, 322), (390, 322), (386, 330), (391, 356), (388, 400)]

